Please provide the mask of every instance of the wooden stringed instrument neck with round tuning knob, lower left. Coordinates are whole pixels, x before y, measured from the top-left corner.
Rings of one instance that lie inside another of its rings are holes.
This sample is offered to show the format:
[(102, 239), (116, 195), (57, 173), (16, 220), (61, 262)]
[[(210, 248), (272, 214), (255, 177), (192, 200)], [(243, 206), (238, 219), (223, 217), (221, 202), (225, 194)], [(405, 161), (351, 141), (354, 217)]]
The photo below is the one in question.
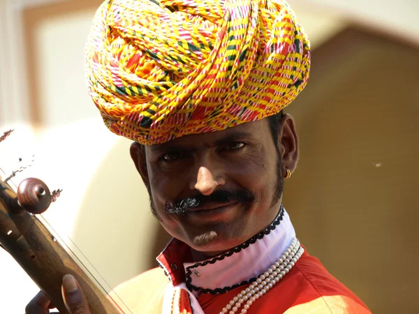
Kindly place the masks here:
[[(6, 139), (13, 130), (0, 137)], [(21, 170), (0, 179), (0, 244), (20, 264), (22, 269), (40, 287), (60, 314), (68, 314), (61, 296), (65, 274), (72, 274), (87, 297), (92, 314), (124, 313), (117, 303), (99, 287), (87, 269), (75, 261), (56, 237), (36, 215), (48, 209), (57, 200), (61, 190), (52, 193), (43, 181), (24, 179), (13, 190), (10, 179)], [(125, 312), (128, 313), (128, 312)]]

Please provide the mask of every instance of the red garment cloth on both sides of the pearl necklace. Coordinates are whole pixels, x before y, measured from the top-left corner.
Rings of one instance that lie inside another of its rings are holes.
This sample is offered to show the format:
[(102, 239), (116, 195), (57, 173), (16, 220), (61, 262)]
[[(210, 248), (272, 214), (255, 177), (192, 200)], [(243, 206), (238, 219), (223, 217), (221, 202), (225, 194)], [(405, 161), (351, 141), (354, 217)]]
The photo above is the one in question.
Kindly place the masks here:
[[(244, 286), (245, 288), (246, 286)], [(205, 314), (219, 314), (243, 287), (219, 296), (198, 297)], [(300, 310), (299, 310), (300, 309)], [(249, 309), (253, 313), (371, 313), (358, 297), (304, 253), (293, 269)]]

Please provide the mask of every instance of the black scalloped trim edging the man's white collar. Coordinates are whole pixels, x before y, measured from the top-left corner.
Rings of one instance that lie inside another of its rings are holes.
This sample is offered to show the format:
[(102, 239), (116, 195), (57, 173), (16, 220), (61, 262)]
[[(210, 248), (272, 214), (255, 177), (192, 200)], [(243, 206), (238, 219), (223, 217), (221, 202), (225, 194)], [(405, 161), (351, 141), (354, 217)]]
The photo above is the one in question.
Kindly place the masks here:
[(207, 264), (214, 264), (215, 262), (217, 262), (219, 260), (223, 260), (225, 257), (229, 257), (229, 256), (233, 255), (234, 253), (239, 253), (240, 251), (244, 250), (245, 248), (248, 248), (250, 244), (254, 244), (257, 240), (263, 239), (263, 237), (265, 237), (265, 235), (270, 234), (270, 232), (272, 230), (274, 230), (281, 223), (281, 220), (282, 220), (283, 216), (284, 216), (284, 205), (281, 204), (281, 209), (279, 209), (279, 215), (274, 220), (274, 222), (271, 223), (265, 230), (263, 230), (263, 231), (259, 232), (258, 234), (254, 235), (253, 237), (251, 237), (246, 242), (240, 244), (240, 246), (236, 246), (235, 248), (232, 248), (230, 251), (214, 257), (212, 260), (206, 260), (205, 262), (197, 262), (196, 264), (193, 264), (192, 266), (186, 267), (186, 274), (185, 274), (186, 275), (186, 287), (188, 287), (188, 289), (190, 291), (195, 290), (196, 292), (198, 292), (198, 295), (203, 294), (203, 293), (223, 294), (223, 293), (226, 293), (230, 290), (235, 289), (236, 287), (240, 287), (241, 285), (247, 285), (247, 283), (250, 284), (250, 283), (255, 282), (257, 278), (250, 278), (248, 281), (242, 281), (241, 283), (238, 283), (236, 285), (232, 285), (230, 287), (223, 287), (223, 288), (216, 288), (216, 289), (203, 289), (202, 287), (196, 287), (195, 285), (191, 284), (191, 281), (192, 281), (192, 278), (191, 278), (192, 271), (191, 271), (191, 269), (194, 269), (198, 266), (205, 266)]

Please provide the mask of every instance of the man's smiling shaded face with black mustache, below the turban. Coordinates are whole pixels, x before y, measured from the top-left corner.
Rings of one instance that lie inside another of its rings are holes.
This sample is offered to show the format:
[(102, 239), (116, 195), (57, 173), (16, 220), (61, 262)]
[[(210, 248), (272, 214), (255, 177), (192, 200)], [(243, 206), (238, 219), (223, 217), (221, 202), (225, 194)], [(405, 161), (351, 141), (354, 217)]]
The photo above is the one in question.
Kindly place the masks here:
[[(164, 144), (131, 148), (166, 231), (214, 255), (272, 223), (280, 206), (281, 158), (267, 119)], [(282, 149), (284, 151), (284, 149)]]

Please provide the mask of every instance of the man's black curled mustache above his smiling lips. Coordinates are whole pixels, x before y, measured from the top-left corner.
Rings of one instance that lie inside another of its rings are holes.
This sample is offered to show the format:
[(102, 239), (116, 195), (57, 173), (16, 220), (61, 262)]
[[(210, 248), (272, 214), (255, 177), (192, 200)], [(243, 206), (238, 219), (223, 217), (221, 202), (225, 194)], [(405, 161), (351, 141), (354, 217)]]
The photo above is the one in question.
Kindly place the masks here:
[(227, 202), (242, 202), (249, 203), (255, 199), (255, 195), (249, 190), (216, 190), (211, 195), (196, 195), (193, 197), (186, 197), (177, 202), (168, 201), (164, 205), (164, 210), (169, 214), (184, 215), (190, 209), (203, 206), (208, 202), (227, 203)]

